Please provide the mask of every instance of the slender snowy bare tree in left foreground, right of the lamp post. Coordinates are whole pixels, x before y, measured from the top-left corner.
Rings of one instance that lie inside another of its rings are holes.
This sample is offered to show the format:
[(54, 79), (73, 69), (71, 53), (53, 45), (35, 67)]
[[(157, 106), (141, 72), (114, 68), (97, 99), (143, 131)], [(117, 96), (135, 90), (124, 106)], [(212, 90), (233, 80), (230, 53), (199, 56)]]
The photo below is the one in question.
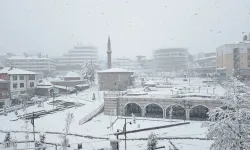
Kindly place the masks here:
[(60, 137), (62, 138), (62, 147), (63, 150), (67, 149), (67, 146), (69, 145), (69, 139), (67, 138), (67, 135), (69, 133), (69, 129), (70, 129), (70, 125), (73, 122), (74, 119), (74, 115), (72, 113), (67, 113), (66, 118), (65, 118), (65, 127), (63, 129), (63, 134), (60, 135)]

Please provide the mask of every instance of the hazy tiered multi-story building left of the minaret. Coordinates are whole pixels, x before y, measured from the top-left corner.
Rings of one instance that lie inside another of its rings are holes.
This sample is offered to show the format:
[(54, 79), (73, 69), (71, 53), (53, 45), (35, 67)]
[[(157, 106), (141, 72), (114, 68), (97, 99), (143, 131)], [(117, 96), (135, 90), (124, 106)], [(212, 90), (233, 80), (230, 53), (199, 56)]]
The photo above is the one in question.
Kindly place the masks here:
[(92, 46), (75, 46), (62, 57), (55, 58), (56, 71), (66, 74), (68, 71), (80, 71), (86, 62), (97, 65), (98, 51)]

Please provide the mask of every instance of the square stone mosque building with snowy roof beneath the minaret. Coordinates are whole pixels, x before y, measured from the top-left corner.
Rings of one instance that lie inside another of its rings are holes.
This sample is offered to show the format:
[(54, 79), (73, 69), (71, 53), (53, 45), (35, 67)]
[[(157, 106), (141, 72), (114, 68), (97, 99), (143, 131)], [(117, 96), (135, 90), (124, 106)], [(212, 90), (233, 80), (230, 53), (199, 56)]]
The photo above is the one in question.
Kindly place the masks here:
[(133, 85), (133, 72), (121, 68), (111, 68), (98, 72), (101, 91), (123, 91)]

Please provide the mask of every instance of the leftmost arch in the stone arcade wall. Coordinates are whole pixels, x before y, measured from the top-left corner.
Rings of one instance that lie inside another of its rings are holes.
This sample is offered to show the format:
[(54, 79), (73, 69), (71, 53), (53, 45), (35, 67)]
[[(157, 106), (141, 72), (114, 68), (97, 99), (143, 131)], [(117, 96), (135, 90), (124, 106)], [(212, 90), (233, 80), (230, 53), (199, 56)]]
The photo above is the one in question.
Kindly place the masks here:
[(139, 104), (134, 102), (129, 102), (124, 106), (125, 116), (131, 116), (133, 113), (135, 116), (141, 117), (142, 116), (142, 108)]

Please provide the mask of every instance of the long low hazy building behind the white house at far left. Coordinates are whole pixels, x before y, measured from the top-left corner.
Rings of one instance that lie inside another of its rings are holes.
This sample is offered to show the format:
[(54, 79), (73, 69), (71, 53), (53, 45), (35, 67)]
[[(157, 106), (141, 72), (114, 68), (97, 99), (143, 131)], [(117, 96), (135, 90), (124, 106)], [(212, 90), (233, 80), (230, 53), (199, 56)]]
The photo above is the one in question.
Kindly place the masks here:
[(48, 73), (56, 70), (55, 60), (38, 56), (12, 56), (6, 59), (9, 67), (34, 71), (37, 73)]

